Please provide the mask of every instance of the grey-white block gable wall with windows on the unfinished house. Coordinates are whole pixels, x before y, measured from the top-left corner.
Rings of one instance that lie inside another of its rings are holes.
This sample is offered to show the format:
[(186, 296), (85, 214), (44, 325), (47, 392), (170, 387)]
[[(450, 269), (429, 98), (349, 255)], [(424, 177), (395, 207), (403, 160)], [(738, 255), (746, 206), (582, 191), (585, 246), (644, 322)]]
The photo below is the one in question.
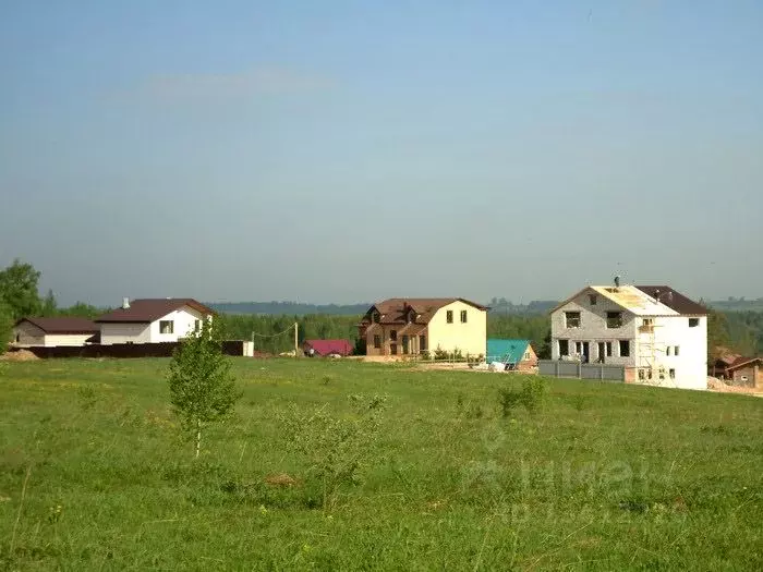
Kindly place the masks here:
[[(595, 293), (593, 290), (590, 293)], [(567, 328), (565, 313), (580, 312), (580, 327)], [(607, 312), (622, 313), (622, 327), (607, 328)], [(605, 363), (633, 367), (635, 365), (637, 317), (609, 299), (598, 294), (596, 304), (592, 305), (589, 292), (577, 296), (552, 314), (552, 360), (559, 358), (559, 340), (569, 340), (570, 355), (574, 353), (576, 341), (586, 341), (590, 345), (590, 361), (598, 360), (598, 342), (611, 342), (613, 355), (604, 358)], [(619, 341), (630, 340), (630, 356), (619, 353)]]

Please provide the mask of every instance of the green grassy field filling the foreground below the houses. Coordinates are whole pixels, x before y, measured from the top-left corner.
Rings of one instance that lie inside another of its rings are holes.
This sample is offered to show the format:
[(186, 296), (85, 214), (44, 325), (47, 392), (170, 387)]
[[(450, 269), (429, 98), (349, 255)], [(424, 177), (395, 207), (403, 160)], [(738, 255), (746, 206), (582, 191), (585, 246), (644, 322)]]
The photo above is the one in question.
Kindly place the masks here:
[[(243, 398), (194, 461), (166, 367), (5, 365), (0, 569), (763, 569), (761, 399), (549, 380), (504, 417), (521, 378), (239, 358)], [(341, 427), (358, 394), (387, 409), (325, 508), (284, 418)]]

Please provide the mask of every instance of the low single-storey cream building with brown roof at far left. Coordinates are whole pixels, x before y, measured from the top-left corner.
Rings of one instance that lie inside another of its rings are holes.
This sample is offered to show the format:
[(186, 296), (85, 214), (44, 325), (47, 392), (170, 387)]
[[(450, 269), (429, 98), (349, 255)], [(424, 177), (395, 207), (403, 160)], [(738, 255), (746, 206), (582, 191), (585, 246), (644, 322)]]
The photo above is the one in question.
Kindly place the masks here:
[(13, 326), (13, 342), (20, 346), (85, 345), (97, 333), (98, 325), (86, 318), (22, 318)]

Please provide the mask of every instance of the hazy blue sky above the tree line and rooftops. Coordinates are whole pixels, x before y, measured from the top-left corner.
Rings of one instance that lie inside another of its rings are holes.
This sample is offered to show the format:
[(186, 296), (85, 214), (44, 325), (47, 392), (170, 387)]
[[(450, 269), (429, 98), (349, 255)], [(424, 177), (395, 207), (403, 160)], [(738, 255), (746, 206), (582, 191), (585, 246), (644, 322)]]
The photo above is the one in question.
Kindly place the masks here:
[(763, 296), (763, 3), (0, 0), (0, 266), (122, 297)]

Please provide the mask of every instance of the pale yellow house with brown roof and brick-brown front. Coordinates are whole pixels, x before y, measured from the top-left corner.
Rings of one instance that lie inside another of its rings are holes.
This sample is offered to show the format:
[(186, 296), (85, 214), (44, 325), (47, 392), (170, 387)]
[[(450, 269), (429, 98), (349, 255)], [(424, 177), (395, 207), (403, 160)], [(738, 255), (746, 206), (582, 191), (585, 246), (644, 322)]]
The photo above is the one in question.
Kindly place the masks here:
[(409, 355), (437, 350), (485, 355), (487, 308), (461, 297), (377, 302), (360, 326), (366, 355)]

